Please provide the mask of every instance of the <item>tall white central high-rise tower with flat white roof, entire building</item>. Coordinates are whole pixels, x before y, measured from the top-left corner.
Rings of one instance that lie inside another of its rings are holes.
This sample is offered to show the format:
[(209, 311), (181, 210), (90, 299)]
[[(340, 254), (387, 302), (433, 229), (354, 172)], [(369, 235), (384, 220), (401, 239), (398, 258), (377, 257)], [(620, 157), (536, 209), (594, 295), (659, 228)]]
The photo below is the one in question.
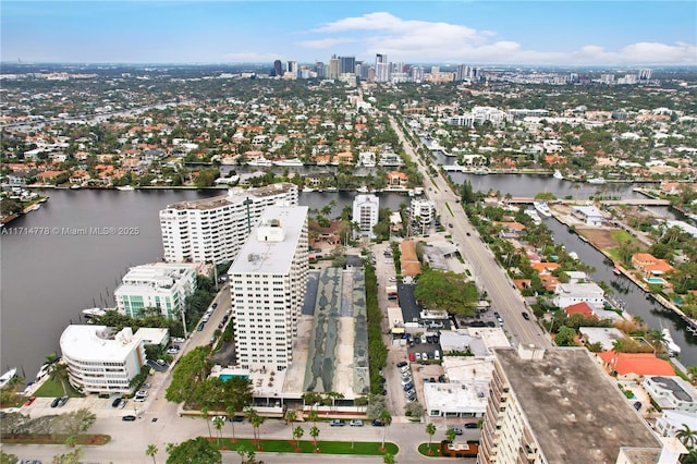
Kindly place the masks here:
[(237, 363), (285, 369), (307, 288), (306, 206), (270, 206), (228, 271)]

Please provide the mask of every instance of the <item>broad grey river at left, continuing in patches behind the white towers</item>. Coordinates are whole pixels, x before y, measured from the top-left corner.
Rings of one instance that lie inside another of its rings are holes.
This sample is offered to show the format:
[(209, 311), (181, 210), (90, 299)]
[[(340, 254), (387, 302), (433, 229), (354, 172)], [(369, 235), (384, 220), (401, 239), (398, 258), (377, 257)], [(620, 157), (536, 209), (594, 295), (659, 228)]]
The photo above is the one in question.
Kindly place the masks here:
[[(46, 356), (59, 352), (63, 329), (81, 322), (82, 309), (114, 306), (113, 290), (130, 267), (162, 259), (160, 209), (222, 194), (47, 190), (49, 200), (39, 210), (7, 224), (0, 235), (0, 371), (17, 367), (33, 380)], [(319, 209), (333, 200), (330, 216), (338, 217), (354, 196), (301, 193), (299, 204)], [(379, 196), (380, 207), (391, 210), (408, 203), (406, 195)], [(114, 228), (117, 234), (71, 235), (69, 229), (81, 228)], [(129, 234), (118, 235), (120, 229)]]

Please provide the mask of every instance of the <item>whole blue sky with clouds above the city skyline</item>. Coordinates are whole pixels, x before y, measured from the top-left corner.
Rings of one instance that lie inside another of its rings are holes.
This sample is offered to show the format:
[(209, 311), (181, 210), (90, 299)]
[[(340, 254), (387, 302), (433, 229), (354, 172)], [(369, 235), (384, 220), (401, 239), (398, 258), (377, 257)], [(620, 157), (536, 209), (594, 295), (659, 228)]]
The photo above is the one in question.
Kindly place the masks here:
[(12, 1), (0, 60), (697, 65), (686, 1)]

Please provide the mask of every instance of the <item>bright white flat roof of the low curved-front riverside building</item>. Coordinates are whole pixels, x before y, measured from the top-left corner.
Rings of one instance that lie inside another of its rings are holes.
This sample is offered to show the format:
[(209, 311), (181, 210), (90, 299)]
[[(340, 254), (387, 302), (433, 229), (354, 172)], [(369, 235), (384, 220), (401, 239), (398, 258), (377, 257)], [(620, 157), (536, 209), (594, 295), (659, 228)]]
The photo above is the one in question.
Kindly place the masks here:
[(118, 333), (107, 326), (70, 325), (61, 334), (63, 354), (83, 362), (123, 362), (140, 343), (131, 328)]

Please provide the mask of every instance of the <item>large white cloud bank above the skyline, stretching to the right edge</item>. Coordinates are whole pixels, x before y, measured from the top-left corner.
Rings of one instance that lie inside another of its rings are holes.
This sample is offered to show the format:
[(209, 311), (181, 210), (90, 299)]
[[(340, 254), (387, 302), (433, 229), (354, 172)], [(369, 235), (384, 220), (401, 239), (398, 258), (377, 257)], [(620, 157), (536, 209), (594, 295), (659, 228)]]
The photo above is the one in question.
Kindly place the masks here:
[[(529, 64), (697, 64), (697, 47), (690, 44), (631, 44), (611, 51), (588, 45), (571, 51), (538, 51), (501, 38), (492, 30), (477, 30), (444, 22), (402, 20), (387, 12), (345, 17), (311, 30), (322, 36), (301, 42), (307, 48), (331, 48), (355, 42), (356, 54), (387, 53), (399, 61), (461, 61)], [(341, 34), (341, 36), (334, 36)], [(353, 37), (353, 38), (350, 38)]]

